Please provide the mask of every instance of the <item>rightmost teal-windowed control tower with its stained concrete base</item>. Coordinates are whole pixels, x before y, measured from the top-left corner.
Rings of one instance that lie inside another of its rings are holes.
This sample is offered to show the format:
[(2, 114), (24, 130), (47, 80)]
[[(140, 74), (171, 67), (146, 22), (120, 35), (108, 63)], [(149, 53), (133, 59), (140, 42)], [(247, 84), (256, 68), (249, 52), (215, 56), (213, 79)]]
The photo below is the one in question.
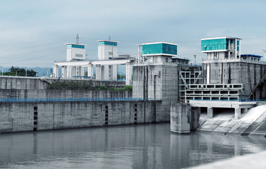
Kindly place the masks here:
[(241, 84), (246, 98), (265, 98), (266, 63), (260, 56), (241, 55), (240, 41), (238, 37), (201, 39), (201, 52), (207, 54), (202, 61), (202, 83)]

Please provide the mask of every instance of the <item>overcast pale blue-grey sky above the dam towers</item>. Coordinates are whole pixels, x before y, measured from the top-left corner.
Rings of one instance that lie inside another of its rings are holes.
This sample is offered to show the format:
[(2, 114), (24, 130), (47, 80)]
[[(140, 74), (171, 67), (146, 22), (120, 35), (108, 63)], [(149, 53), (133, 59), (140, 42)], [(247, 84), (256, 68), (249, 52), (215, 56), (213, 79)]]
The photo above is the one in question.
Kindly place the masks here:
[(66, 43), (118, 41), (119, 54), (137, 56), (136, 44), (172, 42), (181, 58), (200, 63), (202, 37), (240, 37), (241, 54), (264, 56), (266, 1), (245, 0), (8, 0), (0, 5), (0, 66), (48, 67), (66, 59)]

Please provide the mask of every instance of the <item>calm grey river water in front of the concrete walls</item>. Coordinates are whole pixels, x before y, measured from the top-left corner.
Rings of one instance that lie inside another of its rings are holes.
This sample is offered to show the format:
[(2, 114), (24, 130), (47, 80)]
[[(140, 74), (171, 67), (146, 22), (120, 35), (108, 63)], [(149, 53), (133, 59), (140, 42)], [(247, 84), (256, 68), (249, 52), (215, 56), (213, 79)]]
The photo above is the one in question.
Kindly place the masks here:
[(0, 168), (187, 168), (266, 150), (266, 139), (168, 123), (0, 134)]

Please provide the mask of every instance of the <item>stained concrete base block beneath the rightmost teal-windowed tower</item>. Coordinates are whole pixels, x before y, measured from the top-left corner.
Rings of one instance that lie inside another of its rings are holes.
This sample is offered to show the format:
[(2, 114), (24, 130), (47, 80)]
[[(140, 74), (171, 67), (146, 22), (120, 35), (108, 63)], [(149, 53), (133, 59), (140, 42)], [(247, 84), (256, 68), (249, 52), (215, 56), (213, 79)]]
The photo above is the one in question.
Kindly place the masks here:
[[(265, 74), (265, 63), (248, 63), (226, 59), (224, 61), (203, 63), (203, 84), (207, 83), (207, 65), (210, 65), (210, 84), (245, 84), (245, 90), (249, 91)], [(253, 99), (262, 99), (266, 96), (266, 83), (255, 90)]]

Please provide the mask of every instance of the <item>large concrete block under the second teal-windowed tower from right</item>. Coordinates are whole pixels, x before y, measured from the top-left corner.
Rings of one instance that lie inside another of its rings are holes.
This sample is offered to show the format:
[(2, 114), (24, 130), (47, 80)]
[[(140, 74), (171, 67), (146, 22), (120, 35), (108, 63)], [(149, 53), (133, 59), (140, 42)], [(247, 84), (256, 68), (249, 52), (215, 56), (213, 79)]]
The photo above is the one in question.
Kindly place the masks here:
[(176, 64), (134, 65), (132, 96), (162, 100), (164, 115), (170, 120), (171, 104), (178, 101), (178, 77)]

